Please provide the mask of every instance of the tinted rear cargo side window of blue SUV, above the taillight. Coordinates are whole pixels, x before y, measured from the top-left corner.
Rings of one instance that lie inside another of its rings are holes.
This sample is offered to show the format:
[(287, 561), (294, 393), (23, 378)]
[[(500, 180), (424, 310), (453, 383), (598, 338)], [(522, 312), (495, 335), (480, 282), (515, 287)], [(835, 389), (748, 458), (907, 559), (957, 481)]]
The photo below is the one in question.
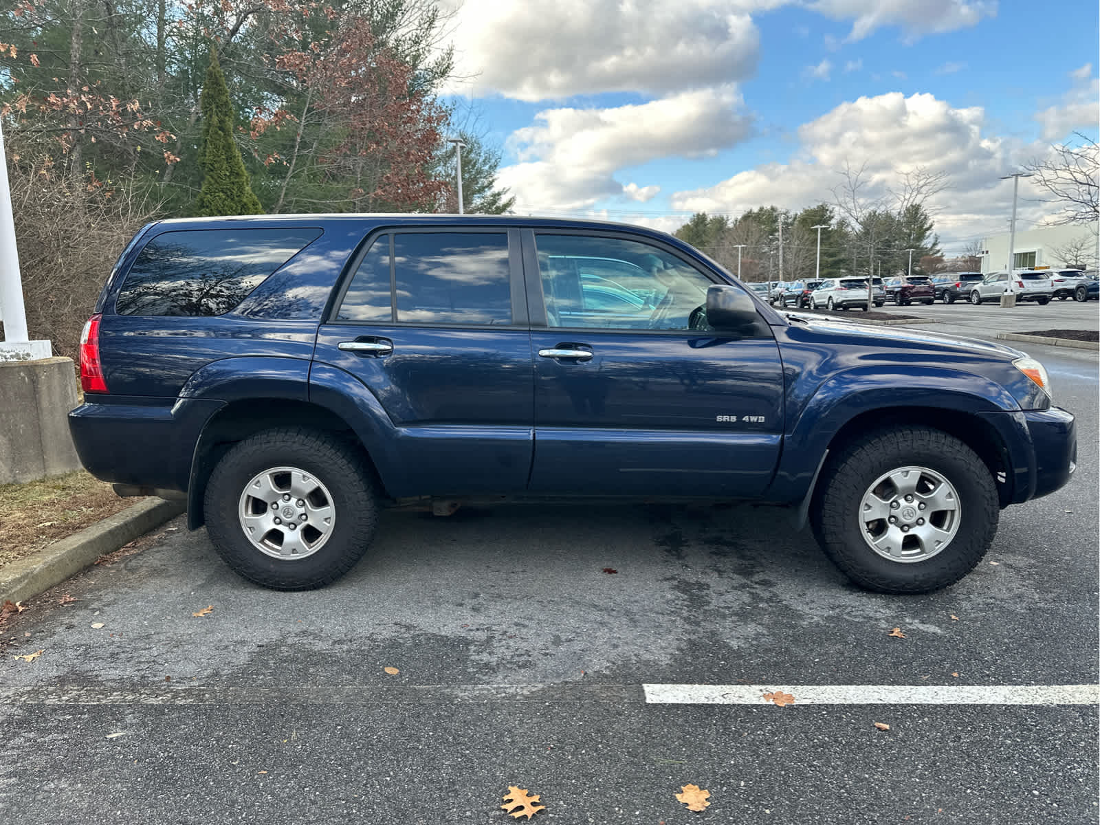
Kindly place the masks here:
[(224, 315), (320, 234), (319, 229), (164, 232), (145, 244), (130, 267), (116, 311)]

